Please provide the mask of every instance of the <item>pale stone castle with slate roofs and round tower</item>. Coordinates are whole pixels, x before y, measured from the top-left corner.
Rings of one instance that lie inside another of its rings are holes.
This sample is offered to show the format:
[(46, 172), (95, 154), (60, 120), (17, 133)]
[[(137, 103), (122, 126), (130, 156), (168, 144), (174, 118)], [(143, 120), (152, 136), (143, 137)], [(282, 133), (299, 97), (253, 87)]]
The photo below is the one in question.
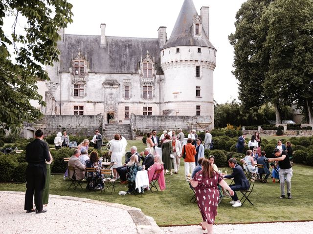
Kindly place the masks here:
[(184, 0), (171, 37), (69, 35), (59, 30), (59, 62), (39, 81), (45, 115), (98, 115), (128, 124), (138, 116), (207, 116), (214, 124), (213, 71), (216, 49), (209, 41), (209, 7), (201, 15)]

